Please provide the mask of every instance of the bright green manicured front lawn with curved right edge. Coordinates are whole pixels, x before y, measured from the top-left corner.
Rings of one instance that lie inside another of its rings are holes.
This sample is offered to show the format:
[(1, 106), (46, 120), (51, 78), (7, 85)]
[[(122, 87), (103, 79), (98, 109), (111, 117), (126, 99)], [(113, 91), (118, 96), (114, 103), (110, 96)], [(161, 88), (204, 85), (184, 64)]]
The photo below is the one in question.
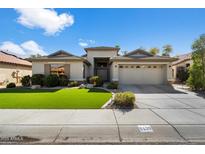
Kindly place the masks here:
[(0, 90), (0, 108), (4, 109), (98, 109), (111, 93), (101, 89)]

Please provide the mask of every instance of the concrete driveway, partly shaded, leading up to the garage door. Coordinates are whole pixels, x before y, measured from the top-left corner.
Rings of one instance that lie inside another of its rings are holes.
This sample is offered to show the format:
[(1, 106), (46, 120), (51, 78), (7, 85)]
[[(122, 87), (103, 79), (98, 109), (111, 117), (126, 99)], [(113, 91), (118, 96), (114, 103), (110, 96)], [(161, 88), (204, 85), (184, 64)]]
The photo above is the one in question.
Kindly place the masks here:
[(121, 85), (122, 91), (132, 91), (141, 109), (205, 109), (205, 99), (167, 85)]

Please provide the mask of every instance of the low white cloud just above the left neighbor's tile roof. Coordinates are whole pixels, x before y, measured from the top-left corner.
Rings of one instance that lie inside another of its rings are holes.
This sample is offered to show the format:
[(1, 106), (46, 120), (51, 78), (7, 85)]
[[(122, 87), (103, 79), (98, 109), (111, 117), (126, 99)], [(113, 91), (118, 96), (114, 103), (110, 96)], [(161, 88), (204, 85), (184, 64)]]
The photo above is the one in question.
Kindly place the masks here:
[(8, 53), (14, 54), (16, 56), (26, 58), (30, 55), (46, 55), (47, 53), (43, 48), (38, 45), (35, 41), (26, 41), (22, 44), (16, 44), (10, 41), (2, 42), (0, 44), (0, 50), (7, 51)]

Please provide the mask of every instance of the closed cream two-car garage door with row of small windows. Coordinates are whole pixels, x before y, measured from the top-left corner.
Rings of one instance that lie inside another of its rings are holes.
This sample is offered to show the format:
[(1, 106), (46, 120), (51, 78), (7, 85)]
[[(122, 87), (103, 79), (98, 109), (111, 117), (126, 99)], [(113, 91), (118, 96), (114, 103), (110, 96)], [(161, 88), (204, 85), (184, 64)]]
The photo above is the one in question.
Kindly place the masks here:
[(163, 84), (164, 65), (120, 65), (120, 84)]

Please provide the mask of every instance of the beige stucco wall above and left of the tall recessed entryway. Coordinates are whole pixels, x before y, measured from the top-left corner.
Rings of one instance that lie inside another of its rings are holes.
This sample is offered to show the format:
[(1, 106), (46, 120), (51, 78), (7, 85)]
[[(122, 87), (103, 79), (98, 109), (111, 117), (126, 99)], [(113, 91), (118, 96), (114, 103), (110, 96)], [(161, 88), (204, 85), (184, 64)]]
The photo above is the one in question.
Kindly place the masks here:
[(117, 51), (87, 51), (87, 60), (91, 63), (89, 76), (94, 75), (94, 58), (111, 58), (117, 56)]

